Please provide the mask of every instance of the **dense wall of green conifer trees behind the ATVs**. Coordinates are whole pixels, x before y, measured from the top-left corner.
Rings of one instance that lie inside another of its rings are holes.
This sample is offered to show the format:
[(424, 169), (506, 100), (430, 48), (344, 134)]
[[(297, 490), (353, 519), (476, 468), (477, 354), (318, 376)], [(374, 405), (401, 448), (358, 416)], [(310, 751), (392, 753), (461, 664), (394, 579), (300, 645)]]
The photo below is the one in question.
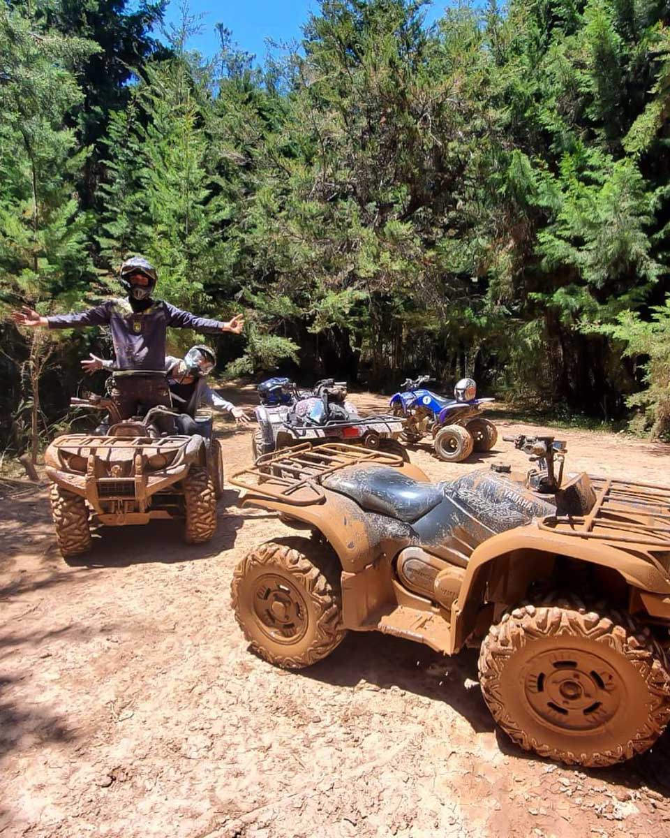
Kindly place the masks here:
[[(142, 253), (158, 297), (245, 310), (226, 375), (472, 375), (670, 436), (670, 4), (423, 5), (322, 0), (258, 65), (223, 24), (189, 50), (188, 8), (159, 39), (162, 3), (0, 0), (0, 313)], [(10, 453), (111, 355), (4, 316), (0, 347)]]

